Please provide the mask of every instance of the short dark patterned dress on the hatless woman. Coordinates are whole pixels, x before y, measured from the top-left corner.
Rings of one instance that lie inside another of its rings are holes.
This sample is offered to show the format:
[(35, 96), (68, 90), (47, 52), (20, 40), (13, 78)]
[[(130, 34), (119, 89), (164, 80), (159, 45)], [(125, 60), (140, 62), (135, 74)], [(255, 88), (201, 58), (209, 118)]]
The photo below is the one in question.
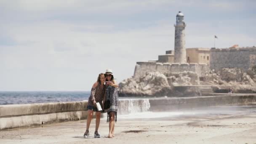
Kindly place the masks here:
[[(99, 82), (96, 88), (91, 88), (91, 95), (88, 99), (87, 110), (91, 109), (94, 112), (98, 112), (97, 107), (93, 104), (93, 100), (95, 100), (96, 102), (99, 102), (102, 108), (102, 101), (104, 98), (105, 88), (106, 86), (104, 85), (103, 87), (101, 87), (101, 84)], [(101, 111), (101, 112), (104, 112), (104, 111)]]

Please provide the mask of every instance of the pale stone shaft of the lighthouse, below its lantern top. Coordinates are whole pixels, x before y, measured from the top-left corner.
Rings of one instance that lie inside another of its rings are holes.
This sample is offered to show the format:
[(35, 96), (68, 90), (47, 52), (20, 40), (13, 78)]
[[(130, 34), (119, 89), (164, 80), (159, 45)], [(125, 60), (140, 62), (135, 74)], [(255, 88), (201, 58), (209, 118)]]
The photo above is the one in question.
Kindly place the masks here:
[(186, 63), (185, 26), (175, 26), (174, 62)]

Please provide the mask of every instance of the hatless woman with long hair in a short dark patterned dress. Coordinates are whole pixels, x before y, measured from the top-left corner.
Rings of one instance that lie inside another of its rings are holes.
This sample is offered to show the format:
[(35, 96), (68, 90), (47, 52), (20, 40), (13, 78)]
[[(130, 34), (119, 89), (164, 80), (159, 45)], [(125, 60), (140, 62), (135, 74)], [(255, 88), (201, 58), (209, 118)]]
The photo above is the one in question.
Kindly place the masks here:
[[(89, 127), (91, 124), (91, 119), (93, 117), (93, 112), (96, 112), (96, 128), (94, 132), (94, 138), (100, 138), (100, 135), (98, 133), (99, 129), (99, 123), (101, 119), (101, 113), (104, 111), (98, 111), (96, 107), (96, 102), (99, 102), (99, 104), (102, 107), (102, 100), (104, 98), (105, 93), (105, 83), (106, 77), (103, 73), (99, 74), (97, 82), (93, 84), (93, 87), (91, 88), (91, 96), (88, 99), (88, 116), (87, 116), (87, 123), (86, 123), (86, 131), (84, 133), (84, 138), (87, 138), (89, 136)], [(103, 109), (103, 107), (102, 107)]]

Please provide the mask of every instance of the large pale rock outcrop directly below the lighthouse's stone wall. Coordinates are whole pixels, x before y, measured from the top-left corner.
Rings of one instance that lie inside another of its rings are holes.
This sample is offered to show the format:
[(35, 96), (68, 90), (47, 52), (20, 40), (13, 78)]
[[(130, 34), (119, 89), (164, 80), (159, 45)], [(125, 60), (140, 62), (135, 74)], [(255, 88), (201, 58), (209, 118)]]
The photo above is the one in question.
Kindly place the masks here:
[(162, 74), (147, 72), (139, 78), (131, 77), (119, 83), (120, 96), (170, 96), (173, 86), (197, 85), (199, 77), (195, 72)]

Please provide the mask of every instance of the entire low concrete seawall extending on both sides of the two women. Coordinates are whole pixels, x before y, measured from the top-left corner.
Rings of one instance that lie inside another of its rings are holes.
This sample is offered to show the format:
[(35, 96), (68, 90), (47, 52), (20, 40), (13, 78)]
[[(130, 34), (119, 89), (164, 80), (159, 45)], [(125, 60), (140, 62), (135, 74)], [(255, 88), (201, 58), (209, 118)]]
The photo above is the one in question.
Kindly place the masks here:
[[(118, 115), (146, 111), (172, 111), (225, 104), (248, 104), (255, 101), (256, 95), (253, 94), (243, 96), (120, 99)], [(86, 107), (87, 101), (0, 105), (0, 129), (86, 119)]]

